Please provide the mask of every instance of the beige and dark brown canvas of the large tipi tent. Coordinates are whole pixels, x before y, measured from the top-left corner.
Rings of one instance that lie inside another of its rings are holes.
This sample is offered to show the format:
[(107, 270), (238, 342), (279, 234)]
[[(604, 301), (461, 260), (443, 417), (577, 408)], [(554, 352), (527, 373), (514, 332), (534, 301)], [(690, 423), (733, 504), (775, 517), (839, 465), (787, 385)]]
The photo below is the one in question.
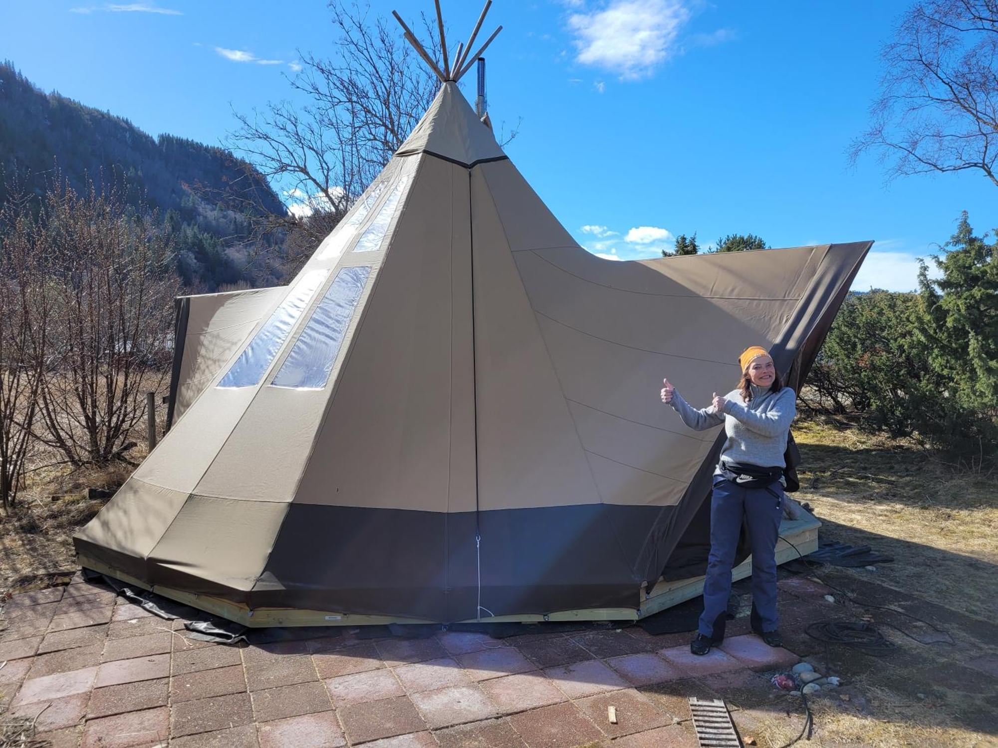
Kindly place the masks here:
[(723, 439), (663, 376), (799, 379), (869, 245), (601, 259), (446, 83), (287, 286), (189, 299), (183, 417), (77, 552), (250, 608), (637, 608), (705, 561)]

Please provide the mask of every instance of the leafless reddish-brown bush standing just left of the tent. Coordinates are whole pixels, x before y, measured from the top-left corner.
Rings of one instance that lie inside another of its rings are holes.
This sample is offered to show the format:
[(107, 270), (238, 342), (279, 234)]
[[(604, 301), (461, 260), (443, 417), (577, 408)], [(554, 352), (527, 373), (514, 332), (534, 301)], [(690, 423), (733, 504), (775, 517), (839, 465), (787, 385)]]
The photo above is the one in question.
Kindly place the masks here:
[[(104, 182), (104, 181), (102, 181)], [(53, 354), (41, 387), (42, 441), (74, 467), (125, 459), (145, 396), (163, 384), (179, 281), (155, 213), (120, 187), (55, 183), (49, 234)]]

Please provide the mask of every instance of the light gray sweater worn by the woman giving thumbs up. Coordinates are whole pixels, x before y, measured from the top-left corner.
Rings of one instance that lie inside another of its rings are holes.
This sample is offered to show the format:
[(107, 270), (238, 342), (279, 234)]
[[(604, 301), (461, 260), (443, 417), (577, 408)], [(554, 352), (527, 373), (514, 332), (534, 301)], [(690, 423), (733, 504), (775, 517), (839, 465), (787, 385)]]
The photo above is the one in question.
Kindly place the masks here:
[[(734, 463), (749, 463), (763, 468), (783, 468), (786, 435), (797, 413), (796, 393), (789, 387), (779, 392), (751, 386), (751, 400), (746, 404), (742, 393), (734, 390), (725, 395), (728, 403), (724, 414), (714, 407), (694, 408), (679, 392), (673, 392), (673, 410), (683, 423), (697, 431), (707, 431), (725, 425), (728, 440), (721, 450), (721, 459)], [(720, 474), (720, 469), (715, 475)]]

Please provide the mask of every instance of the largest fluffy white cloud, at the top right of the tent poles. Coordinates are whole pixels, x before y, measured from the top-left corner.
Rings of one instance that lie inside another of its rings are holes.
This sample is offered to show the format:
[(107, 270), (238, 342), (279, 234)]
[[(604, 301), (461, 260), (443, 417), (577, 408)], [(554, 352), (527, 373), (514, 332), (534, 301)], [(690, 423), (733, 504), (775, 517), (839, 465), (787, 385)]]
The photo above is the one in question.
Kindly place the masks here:
[(576, 60), (622, 79), (651, 75), (673, 52), (690, 19), (684, 0), (611, 0), (600, 10), (568, 18)]

